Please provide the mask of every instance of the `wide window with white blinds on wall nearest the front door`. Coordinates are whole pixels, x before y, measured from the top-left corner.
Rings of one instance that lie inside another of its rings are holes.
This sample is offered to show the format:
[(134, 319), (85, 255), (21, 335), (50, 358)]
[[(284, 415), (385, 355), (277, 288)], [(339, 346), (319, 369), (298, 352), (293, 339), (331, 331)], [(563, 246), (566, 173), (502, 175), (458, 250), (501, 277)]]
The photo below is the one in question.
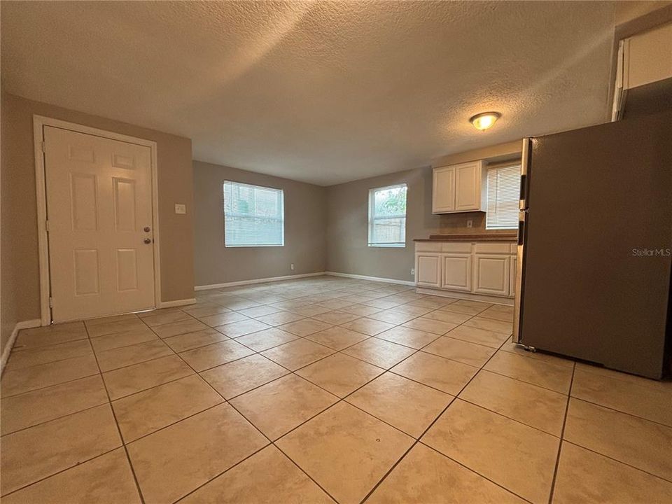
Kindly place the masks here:
[(282, 190), (224, 182), (224, 246), (283, 246)]

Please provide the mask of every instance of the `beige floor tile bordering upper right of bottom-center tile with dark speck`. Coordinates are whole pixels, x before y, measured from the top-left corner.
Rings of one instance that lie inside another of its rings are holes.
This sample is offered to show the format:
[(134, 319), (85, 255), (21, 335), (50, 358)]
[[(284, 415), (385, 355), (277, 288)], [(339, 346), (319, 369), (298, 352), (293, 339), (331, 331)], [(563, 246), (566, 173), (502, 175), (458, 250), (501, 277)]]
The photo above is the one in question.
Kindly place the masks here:
[(350, 404), (413, 437), (419, 437), (452, 399), (452, 395), (390, 372), (346, 398)]

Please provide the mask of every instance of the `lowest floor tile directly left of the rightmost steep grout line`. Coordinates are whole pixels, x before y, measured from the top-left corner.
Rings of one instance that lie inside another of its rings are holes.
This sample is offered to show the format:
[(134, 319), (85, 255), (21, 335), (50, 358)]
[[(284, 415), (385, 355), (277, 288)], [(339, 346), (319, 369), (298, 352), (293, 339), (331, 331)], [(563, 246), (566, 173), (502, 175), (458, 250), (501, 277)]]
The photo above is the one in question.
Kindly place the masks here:
[(559, 439), (456, 399), (422, 442), (526, 498), (547, 503)]

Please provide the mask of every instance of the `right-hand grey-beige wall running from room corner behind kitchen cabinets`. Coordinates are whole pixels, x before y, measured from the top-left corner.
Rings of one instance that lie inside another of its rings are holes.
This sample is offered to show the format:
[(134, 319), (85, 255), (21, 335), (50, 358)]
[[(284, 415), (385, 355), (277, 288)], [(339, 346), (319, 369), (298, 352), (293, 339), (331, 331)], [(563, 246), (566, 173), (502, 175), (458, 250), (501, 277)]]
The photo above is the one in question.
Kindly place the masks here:
[[(435, 160), (435, 167), (471, 160), (493, 161), (517, 158), (521, 142), (477, 149)], [(368, 241), (368, 197), (373, 188), (406, 183), (405, 248), (370, 247)], [(473, 228), (467, 228), (467, 221)], [(327, 188), (327, 271), (386, 279), (413, 281), (414, 238), (440, 233), (486, 232), (484, 212), (432, 214), (432, 169), (416, 168), (406, 172), (381, 175), (370, 179)], [(487, 232), (493, 232), (488, 230)], [(496, 232), (507, 232), (496, 231)]]

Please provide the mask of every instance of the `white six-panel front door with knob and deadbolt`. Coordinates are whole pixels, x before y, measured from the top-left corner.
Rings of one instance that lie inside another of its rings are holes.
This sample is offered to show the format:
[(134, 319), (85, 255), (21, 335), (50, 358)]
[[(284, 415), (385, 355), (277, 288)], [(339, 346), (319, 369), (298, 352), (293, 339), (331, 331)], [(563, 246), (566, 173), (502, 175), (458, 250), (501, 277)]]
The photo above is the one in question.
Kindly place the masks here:
[(151, 148), (44, 127), (52, 320), (155, 307)]

